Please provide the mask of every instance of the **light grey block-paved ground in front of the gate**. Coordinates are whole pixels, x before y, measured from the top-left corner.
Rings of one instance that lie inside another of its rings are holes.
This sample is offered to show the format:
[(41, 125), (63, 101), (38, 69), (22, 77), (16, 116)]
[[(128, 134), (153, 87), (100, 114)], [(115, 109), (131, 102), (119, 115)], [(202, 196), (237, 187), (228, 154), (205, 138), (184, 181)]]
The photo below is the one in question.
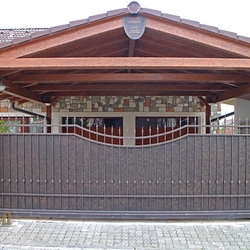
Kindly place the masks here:
[(13, 220), (0, 249), (250, 249), (250, 221)]

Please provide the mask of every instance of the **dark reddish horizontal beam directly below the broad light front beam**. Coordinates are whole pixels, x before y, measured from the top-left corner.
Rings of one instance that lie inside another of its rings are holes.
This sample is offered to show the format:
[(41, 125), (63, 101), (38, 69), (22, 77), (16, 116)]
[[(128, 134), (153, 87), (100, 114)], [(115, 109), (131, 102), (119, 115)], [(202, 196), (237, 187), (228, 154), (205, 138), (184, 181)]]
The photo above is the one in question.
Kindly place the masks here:
[[(250, 75), (229, 73), (95, 73), (95, 74), (28, 74), (17, 75), (7, 78), (12, 82), (42, 82), (42, 83), (164, 83), (164, 82), (221, 82), (221, 83), (244, 83), (250, 81)], [(237, 86), (234, 84), (234, 86)]]

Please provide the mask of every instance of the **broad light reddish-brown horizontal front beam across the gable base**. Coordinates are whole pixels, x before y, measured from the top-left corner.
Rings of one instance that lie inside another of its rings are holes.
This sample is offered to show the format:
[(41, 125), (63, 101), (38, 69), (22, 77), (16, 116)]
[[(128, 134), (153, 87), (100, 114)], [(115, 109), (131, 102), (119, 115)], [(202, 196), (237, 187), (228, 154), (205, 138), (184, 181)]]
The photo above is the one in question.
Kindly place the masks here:
[(250, 59), (182, 57), (0, 58), (0, 70), (6, 69), (200, 69), (250, 71)]

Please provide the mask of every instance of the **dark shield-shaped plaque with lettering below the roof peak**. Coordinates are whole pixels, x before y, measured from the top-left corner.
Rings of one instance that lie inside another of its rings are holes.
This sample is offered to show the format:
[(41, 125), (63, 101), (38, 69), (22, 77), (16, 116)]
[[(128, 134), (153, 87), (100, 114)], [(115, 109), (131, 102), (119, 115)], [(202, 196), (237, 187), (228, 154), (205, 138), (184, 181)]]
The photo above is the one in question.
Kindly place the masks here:
[(123, 27), (130, 39), (138, 40), (145, 31), (146, 17), (140, 15), (125, 16), (123, 17)]

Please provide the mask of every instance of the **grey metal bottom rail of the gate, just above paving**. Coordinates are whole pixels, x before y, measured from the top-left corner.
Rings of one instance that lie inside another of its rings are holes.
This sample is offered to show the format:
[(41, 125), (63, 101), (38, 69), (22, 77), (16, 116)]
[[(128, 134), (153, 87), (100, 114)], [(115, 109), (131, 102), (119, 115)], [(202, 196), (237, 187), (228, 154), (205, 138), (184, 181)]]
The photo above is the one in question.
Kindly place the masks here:
[(74, 211), (72, 210), (24, 210), (24, 209), (0, 209), (1, 213), (11, 212), (15, 217), (30, 218), (68, 218), (68, 219), (133, 219), (133, 220), (156, 220), (156, 219), (246, 219), (250, 218), (250, 210), (232, 211)]

